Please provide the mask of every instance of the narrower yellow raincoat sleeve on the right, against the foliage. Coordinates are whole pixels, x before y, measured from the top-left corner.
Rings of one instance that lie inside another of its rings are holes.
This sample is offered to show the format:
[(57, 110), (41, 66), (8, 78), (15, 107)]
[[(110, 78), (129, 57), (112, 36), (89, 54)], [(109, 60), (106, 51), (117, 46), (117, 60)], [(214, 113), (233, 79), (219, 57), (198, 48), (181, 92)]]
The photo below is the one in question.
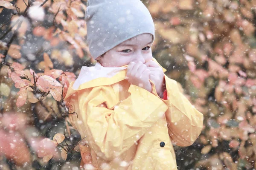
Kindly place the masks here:
[(165, 75), (168, 106), (166, 121), (169, 136), (178, 146), (192, 145), (203, 128), (204, 116), (180, 92), (177, 82)]

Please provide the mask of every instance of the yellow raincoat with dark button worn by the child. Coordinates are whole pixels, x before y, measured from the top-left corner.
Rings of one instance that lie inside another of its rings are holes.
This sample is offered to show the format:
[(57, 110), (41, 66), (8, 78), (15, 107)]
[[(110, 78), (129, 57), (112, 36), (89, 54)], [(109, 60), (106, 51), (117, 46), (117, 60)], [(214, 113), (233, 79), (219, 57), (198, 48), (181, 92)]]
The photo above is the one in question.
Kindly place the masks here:
[[(90, 72), (85, 75), (93, 77)], [(172, 143), (193, 144), (201, 133), (203, 114), (166, 75), (167, 100), (160, 99), (154, 84), (150, 93), (129, 84), (125, 76), (122, 69), (112, 76), (89, 78), (76, 90), (74, 82), (70, 84), (65, 102), (70, 113), (78, 114), (71, 114), (70, 120), (92, 156), (85, 167), (177, 170)]]

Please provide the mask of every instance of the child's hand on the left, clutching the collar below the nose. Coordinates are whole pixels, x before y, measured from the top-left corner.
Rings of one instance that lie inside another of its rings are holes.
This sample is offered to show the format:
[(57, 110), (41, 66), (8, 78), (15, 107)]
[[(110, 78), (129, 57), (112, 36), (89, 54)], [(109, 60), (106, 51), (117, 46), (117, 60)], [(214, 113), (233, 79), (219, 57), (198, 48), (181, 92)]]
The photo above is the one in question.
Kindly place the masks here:
[(132, 85), (137, 85), (151, 93), (152, 86), (149, 82), (149, 74), (149, 69), (142, 62), (130, 62), (126, 77)]

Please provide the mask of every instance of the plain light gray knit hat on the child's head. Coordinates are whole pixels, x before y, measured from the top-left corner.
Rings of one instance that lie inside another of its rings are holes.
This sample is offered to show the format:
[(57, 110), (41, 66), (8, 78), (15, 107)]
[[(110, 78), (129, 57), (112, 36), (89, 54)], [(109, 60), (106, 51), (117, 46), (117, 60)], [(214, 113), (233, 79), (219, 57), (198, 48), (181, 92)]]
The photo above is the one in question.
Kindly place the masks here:
[(140, 0), (87, 0), (87, 41), (94, 59), (143, 33), (153, 35), (154, 23)]

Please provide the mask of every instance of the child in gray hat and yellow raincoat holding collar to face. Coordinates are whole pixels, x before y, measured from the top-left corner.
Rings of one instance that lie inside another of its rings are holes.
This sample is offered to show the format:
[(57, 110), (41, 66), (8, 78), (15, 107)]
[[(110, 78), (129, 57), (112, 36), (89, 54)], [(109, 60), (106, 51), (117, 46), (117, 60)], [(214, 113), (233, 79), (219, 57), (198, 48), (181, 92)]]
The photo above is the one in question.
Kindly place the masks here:
[(189, 146), (203, 115), (152, 57), (152, 17), (140, 0), (88, 0), (87, 40), (97, 59), (65, 98), (87, 143), (85, 169), (177, 170), (172, 143)]

